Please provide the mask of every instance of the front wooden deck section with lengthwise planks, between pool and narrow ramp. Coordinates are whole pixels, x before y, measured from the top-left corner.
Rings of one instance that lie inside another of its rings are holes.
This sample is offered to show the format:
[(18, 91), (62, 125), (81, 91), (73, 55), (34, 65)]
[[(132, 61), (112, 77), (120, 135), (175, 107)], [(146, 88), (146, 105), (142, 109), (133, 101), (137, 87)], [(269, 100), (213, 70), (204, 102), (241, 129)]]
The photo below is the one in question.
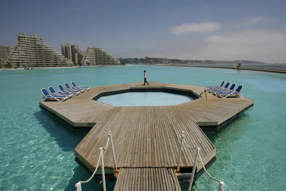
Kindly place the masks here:
[[(188, 120), (192, 114), (175, 106), (114, 107), (88, 132), (75, 154), (91, 170), (112, 132), (117, 167), (177, 167), (181, 132), (187, 144), (202, 150), (205, 164), (215, 157), (215, 147), (200, 127)], [(181, 167), (192, 167), (195, 150), (183, 146)], [(111, 147), (104, 153), (105, 167), (113, 168)], [(200, 170), (198, 166), (197, 171)]]

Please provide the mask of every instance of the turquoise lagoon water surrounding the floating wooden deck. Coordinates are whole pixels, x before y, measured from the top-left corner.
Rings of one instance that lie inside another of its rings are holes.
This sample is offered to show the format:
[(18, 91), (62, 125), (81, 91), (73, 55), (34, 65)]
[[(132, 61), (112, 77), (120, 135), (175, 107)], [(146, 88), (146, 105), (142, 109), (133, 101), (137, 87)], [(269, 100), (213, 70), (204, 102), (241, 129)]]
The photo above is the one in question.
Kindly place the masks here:
[[(217, 148), (209, 168), (225, 190), (286, 190), (286, 75), (259, 71), (128, 66), (0, 71), (0, 190), (75, 190), (90, 177), (75, 161), (86, 133), (72, 132), (39, 108), (41, 88), (75, 81), (84, 86), (148, 81), (209, 86), (243, 85), (254, 107), (219, 131), (206, 132)], [(187, 188), (183, 188), (187, 189)], [(91, 181), (83, 190), (100, 190)], [(217, 190), (203, 174), (193, 190)]]

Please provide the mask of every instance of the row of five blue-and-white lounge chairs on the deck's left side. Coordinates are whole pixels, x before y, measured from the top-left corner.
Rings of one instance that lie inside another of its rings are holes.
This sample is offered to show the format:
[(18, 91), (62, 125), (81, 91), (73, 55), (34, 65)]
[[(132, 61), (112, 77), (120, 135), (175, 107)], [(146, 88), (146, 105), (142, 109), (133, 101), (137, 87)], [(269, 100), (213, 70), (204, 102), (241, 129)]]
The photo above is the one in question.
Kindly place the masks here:
[(65, 101), (66, 99), (71, 98), (72, 96), (76, 96), (80, 93), (83, 93), (84, 91), (90, 90), (90, 87), (83, 87), (83, 86), (77, 86), (73, 81), (71, 84), (73, 85), (72, 87), (69, 86), (68, 83), (64, 83), (66, 86), (66, 89), (63, 88), (62, 85), (57, 85), (57, 87), (60, 89), (60, 91), (55, 91), (53, 87), (48, 87), (49, 91), (46, 90), (45, 88), (41, 89), (44, 97), (41, 99), (41, 101), (46, 101), (46, 100), (57, 100), (57, 101)]

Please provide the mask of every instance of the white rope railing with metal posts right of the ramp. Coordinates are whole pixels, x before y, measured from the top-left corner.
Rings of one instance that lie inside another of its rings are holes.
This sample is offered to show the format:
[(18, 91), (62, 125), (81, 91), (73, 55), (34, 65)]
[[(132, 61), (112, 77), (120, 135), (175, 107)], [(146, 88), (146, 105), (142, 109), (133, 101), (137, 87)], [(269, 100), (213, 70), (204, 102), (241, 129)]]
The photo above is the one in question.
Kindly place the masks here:
[(206, 170), (205, 166), (203, 165), (203, 160), (202, 160), (202, 157), (200, 155), (200, 148), (199, 147), (190, 147), (187, 143), (186, 143), (186, 140), (185, 140), (185, 137), (184, 137), (184, 131), (182, 131), (182, 135), (181, 135), (181, 145), (180, 145), (180, 152), (179, 152), (179, 158), (178, 158), (178, 167), (177, 169), (179, 170), (180, 169), (180, 158), (181, 158), (181, 151), (182, 151), (182, 142), (184, 142), (184, 144), (186, 145), (186, 147), (188, 147), (189, 149), (191, 150), (194, 150), (196, 149), (196, 156), (195, 156), (195, 161), (194, 161), (194, 164), (193, 164), (193, 169), (192, 169), (192, 175), (191, 175), (191, 179), (190, 179), (190, 184), (189, 184), (189, 189), (188, 191), (191, 191), (191, 188), (192, 188), (192, 183), (193, 183), (193, 179), (194, 179), (194, 175), (195, 175), (195, 168), (197, 166), (197, 161), (198, 161), (198, 158), (200, 159), (200, 163), (202, 164), (203, 166), (203, 170), (206, 172), (206, 174), (212, 178), (213, 180), (219, 182), (219, 187), (218, 187), (218, 191), (224, 191), (223, 187), (226, 185), (223, 181), (217, 179), (217, 178), (214, 178), (212, 177), (209, 172)]

